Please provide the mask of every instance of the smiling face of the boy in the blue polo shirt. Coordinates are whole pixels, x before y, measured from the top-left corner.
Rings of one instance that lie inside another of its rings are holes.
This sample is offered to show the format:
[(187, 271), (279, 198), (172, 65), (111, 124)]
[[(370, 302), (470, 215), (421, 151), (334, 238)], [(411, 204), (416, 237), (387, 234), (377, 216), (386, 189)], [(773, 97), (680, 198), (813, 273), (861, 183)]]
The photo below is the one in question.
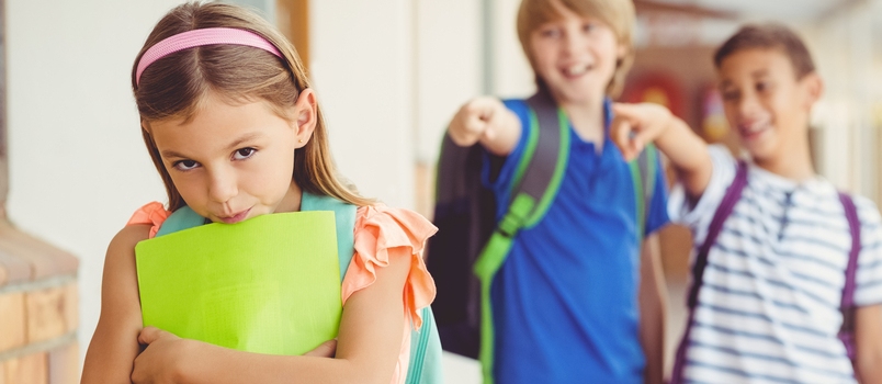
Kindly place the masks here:
[(535, 71), (558, 103), (593, 102), (606, 92), (627, 47), (599, 19), (576, 14), (557, 1), (552, 4), (561, 18), (530, 35)]

